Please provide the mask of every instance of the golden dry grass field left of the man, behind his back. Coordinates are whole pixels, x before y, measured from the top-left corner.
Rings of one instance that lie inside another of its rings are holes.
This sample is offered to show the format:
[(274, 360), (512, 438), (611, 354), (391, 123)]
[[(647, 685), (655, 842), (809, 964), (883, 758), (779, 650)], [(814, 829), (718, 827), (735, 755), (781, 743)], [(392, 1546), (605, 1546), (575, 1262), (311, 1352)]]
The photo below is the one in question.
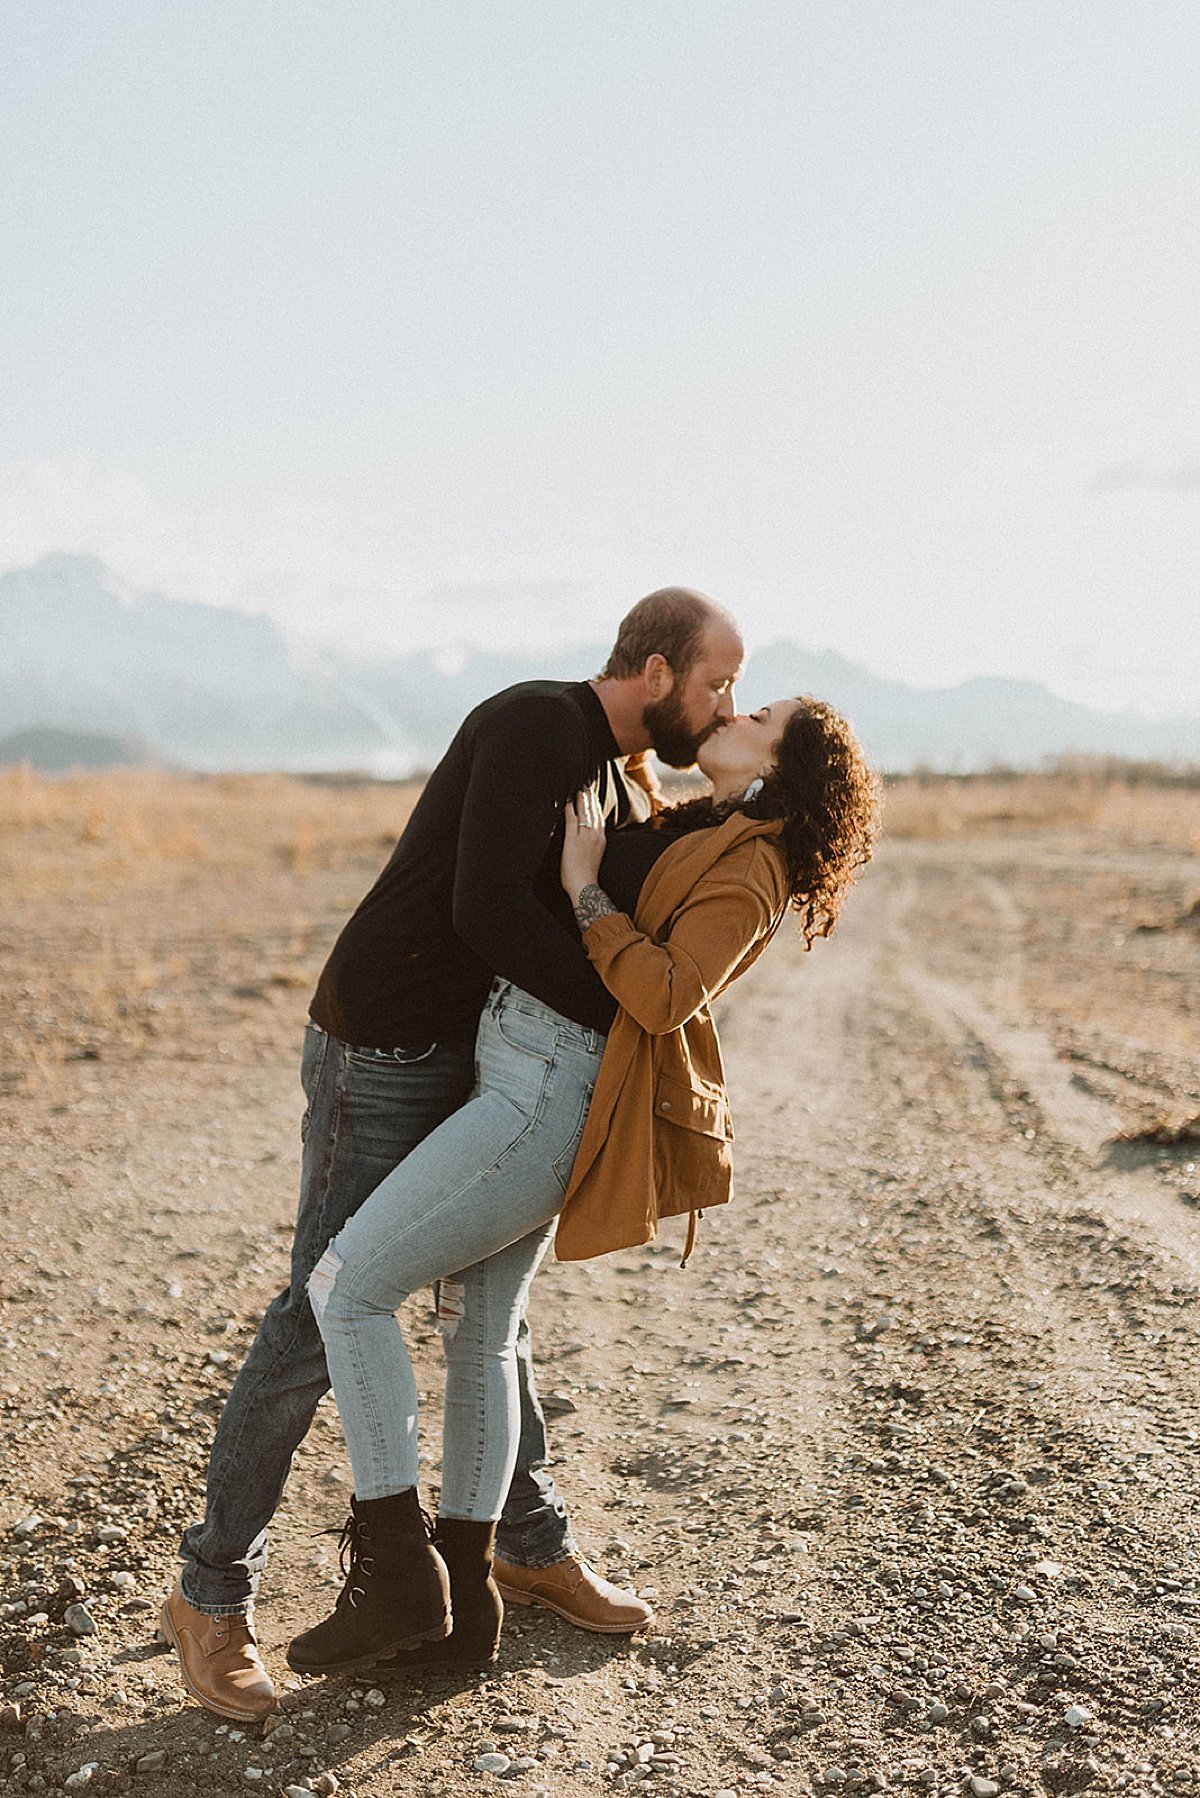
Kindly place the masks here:
[(58, 1088), (74, 1061), (167, 1052), (214, 996), (295, 1005), (331, 903), (362, 897), (417, 791), (0, 771), (0, 1079)]

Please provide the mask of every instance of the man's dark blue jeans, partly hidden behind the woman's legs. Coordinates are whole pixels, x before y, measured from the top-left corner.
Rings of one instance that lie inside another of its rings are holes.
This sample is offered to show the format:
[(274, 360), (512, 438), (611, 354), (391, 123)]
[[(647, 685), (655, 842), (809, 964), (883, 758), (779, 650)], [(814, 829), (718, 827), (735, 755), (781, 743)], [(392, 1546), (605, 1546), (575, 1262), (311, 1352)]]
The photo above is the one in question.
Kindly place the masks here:
[[(308, 1027), (291, 1284), (268, 1307), (234, 1381), (209, 1460), (205, 1519), (184, 1535), (184, 1597), (198, 1611), (225, 1616), (252, 1604), (266, 1564), (266, 1527), (291, 1455), (329, 1390), (324, 1343), (308, 1302), (309, 1273), (380, 1181), (468, 1100), (473, 1066), (466, 1043), (385, 1054), (349, 1048)], [(545, 1419), (524, 1320), (518, 1375), (520, 1449), (497, 1548), (506, 1561), (547, 1566), (576, 1550), (565, 1505), (545, 1469)]]

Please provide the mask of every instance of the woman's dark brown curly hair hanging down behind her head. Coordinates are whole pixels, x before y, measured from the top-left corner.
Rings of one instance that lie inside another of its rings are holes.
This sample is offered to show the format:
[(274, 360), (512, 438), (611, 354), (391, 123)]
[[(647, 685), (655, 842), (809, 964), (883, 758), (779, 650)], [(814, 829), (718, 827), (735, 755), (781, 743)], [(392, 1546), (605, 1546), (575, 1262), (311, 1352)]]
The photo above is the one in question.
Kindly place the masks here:
[(880, 779), (855, 732), (824, 699), (802, 696), (783, 728), (775, 766), (750, 800), (689, 800), (658, 813), (669, 829), (723, 823), (734, 811), (781, 818), (788, 892), (804, 948), (833, 930), (842, 899), (880, 836)]

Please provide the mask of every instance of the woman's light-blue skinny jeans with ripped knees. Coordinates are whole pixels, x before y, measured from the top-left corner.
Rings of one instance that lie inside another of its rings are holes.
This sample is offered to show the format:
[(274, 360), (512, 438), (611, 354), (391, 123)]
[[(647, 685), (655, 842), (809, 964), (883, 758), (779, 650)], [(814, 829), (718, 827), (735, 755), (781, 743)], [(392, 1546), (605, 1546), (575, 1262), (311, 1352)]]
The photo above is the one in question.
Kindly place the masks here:
[(491, 989), (475, 1091), (335, 1235), (308, 1282), (354, 1496), (417, 1483), (417, 1388), (396, 1309), (432, 1282), (446, 1354), (441, 1516), (491, 1521), (520, 1431), (516, 1336), (554, 1233), (604, 1037)]

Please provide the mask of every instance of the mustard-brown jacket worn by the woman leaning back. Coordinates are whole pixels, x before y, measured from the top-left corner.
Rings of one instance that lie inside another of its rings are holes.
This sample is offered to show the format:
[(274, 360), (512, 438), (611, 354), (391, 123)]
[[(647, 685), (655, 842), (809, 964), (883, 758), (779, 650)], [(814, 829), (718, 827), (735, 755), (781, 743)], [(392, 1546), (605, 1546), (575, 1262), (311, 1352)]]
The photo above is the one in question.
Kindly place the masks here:
[(660, 1217), (732, 1194), (721, 1045), (711, 1001), (757, 960), (783, 919), (779, 823), (734, 813), (649, 870), (637, 919), (597, 919), (583, 946), (621, 1010), (608, 1034), (554, 1253), (587, 1260), (651, 1242)]

